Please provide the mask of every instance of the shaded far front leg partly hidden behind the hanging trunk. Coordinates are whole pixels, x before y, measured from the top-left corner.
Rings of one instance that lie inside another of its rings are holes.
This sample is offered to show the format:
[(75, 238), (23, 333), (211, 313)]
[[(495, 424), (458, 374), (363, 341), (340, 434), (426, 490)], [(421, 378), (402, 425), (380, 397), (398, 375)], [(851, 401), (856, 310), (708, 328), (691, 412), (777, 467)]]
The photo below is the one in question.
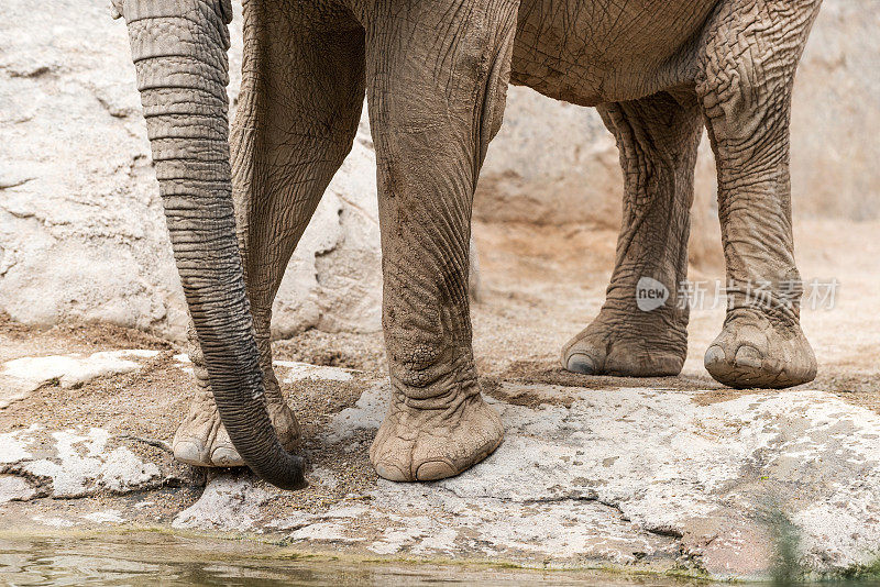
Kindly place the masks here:
[[(297, 15), (287, 2), (244, 7), (244, 63), (232, 128), (232, 182), (244, 279), (270, 418), (287, 450), (299, 425), (272, 367), (272, 303), (285, 268), (324, 189), (350, 152), (364, 98), (363, 30)], [(239, 466), (208, 388), (198, 342), (189, 355), (197, 392), (174, 439), (175, 457)]]

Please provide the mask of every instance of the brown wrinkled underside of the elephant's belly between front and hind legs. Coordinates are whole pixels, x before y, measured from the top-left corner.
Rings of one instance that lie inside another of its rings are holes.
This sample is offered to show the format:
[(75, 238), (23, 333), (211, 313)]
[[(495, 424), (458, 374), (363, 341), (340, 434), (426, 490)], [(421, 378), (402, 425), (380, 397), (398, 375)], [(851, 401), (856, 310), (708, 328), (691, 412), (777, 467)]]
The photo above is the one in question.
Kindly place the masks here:
[(522, 0), (510, 81), (581, 106), (692, 81), (718, 0)]

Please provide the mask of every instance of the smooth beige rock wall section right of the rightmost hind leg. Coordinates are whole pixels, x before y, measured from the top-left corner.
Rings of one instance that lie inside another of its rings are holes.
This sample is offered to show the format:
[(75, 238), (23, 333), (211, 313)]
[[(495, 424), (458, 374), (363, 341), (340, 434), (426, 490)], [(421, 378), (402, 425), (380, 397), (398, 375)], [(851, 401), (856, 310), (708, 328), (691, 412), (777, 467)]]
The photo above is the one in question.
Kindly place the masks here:
[(880, 0), (825, 0), (798, 75), (798, 213), (880, 218)]

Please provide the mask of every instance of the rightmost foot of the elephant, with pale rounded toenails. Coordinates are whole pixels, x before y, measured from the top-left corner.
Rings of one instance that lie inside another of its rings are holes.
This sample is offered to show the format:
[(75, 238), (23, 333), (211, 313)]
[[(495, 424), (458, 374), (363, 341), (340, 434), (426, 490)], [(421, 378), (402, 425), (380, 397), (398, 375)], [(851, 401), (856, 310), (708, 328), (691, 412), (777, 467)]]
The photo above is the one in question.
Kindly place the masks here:
[(740, 389), (781, 389), (816, 376), (816, 356), (801, 325), (780, 325), (750, 308), (728, 313), (704, 362), (716, 381)]

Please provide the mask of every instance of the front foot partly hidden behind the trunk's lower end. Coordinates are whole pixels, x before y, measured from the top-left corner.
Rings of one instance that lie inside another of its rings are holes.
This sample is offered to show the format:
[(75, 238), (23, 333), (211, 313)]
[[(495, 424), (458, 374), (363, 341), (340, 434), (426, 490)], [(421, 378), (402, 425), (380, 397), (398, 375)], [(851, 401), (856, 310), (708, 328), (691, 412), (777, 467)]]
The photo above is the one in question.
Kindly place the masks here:
[[(299, 424), (283, 400), (268, 400), (268, 416), (282, 446), (289, 453), (299, 445)], [(200, 392), (177, 428), (172, 442), (174, 457), (199, 467), (242, 467), (244, 461), (232, 445), (210, 392)]]

